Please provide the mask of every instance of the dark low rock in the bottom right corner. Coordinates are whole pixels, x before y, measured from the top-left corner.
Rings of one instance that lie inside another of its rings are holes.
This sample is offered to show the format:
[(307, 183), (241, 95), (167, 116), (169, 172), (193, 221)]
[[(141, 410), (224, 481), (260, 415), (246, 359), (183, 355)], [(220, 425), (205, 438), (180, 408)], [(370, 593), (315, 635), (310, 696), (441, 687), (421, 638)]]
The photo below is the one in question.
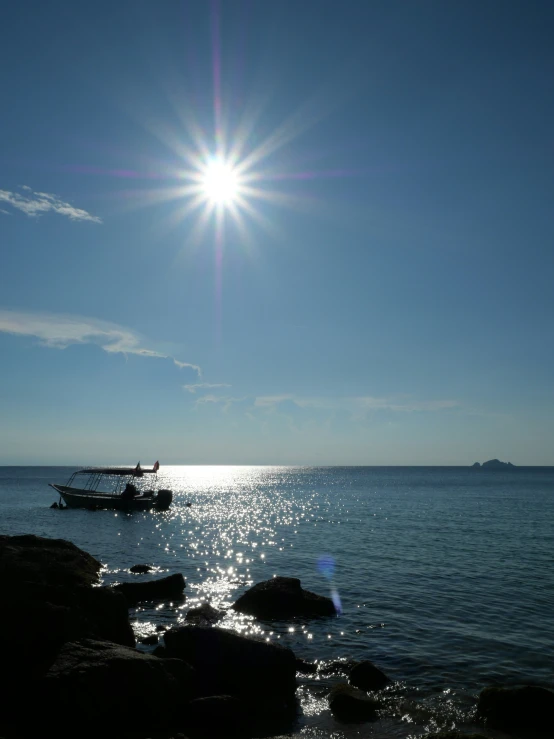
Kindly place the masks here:
[(485, 688), (479, 696), (477, 714), (492, 728), (551, 729), (554, 692), (534, 685)]

